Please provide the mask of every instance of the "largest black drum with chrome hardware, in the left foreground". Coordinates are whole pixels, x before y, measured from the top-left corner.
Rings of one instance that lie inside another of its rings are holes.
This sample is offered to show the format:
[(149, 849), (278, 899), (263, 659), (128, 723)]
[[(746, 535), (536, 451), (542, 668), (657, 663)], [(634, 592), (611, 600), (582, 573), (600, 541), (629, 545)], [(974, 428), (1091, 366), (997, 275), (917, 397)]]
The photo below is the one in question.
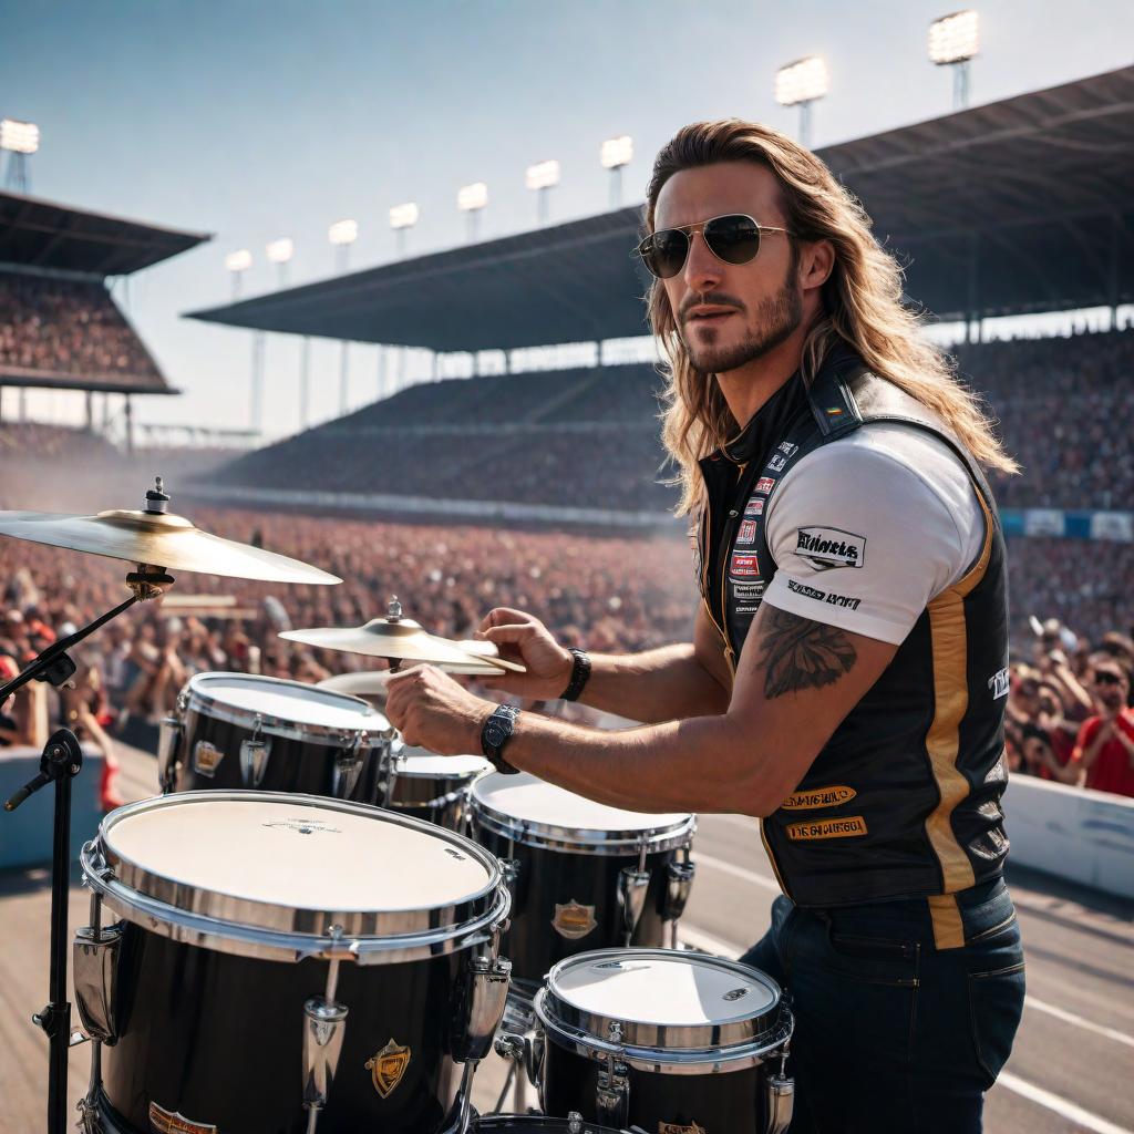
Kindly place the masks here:
[(508, 988), (484, 849), (364, 804), (187, 792), (111, 812), (81, 861), (93, 1128), (465, 1129)]

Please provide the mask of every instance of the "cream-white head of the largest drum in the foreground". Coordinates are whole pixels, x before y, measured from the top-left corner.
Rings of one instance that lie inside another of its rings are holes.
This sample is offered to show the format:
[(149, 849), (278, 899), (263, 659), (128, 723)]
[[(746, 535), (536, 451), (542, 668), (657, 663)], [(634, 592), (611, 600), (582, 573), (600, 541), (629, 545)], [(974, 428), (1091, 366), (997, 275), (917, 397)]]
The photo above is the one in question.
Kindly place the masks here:
[(166, 799), (108, 823), (104, 840), (115, 856), (197, 890), (369, 913), (452, 905), (491, 881), (452, 839), (376, 809), (339, 811), (312, 796)]

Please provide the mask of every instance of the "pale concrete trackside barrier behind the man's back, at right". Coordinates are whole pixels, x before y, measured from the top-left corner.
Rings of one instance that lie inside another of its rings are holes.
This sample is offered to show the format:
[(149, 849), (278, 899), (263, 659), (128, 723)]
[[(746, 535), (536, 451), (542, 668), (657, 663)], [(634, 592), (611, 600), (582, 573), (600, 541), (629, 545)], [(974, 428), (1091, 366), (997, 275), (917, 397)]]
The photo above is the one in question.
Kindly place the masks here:
[(1134, 799), (1014, 776), (1004, 806), (1010, 862), (1134, 898)]

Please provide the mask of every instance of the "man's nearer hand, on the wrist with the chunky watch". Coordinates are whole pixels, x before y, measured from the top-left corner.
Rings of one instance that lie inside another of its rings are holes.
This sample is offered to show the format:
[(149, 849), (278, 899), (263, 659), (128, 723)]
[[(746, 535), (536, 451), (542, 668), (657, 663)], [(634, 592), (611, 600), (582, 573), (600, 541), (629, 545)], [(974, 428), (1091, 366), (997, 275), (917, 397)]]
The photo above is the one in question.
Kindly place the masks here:
[(441, 756), (481, 751), (481, 726), (494, 706), (432, 666), (391, 675), (386, 716), (401, 739)]

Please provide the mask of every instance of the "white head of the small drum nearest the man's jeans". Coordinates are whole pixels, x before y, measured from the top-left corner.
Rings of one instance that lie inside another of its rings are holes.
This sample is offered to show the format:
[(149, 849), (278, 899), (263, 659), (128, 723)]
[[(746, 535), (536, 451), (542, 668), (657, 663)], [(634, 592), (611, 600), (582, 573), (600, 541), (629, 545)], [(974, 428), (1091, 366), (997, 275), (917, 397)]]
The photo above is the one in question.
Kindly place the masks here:
[(776, 990), (754, 968), (718, 957), (609, 951), (561, 962), (558, 999), (582, 1012), (640, 1024), (703, 1026), (747, 1019), (775, 1007)]

